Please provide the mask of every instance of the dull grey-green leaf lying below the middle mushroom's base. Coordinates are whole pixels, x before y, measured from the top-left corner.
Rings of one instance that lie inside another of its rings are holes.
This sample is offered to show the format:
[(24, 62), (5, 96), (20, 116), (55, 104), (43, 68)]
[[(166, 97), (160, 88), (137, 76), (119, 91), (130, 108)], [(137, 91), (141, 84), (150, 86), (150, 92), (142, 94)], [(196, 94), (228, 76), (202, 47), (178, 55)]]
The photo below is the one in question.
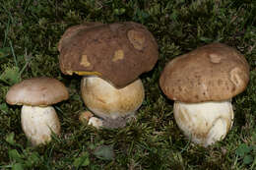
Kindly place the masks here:
[(94, 151), (94, 154), (97, 158), (103, 160), (113, 160), (114, 159), (114, 151), (113, 145), (100, 145)]

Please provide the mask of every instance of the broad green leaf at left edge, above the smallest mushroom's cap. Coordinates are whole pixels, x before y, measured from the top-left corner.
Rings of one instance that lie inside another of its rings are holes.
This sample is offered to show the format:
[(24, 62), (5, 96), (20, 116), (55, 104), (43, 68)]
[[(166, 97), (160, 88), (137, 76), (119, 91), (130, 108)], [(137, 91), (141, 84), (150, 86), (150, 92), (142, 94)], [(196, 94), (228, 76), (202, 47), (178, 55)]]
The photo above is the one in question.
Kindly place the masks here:
[(18, 67), (7, 68), (4, 73), (0, 76), (0, 81), (8, 84), (15, 85), (21, 82), (21, 76)]

